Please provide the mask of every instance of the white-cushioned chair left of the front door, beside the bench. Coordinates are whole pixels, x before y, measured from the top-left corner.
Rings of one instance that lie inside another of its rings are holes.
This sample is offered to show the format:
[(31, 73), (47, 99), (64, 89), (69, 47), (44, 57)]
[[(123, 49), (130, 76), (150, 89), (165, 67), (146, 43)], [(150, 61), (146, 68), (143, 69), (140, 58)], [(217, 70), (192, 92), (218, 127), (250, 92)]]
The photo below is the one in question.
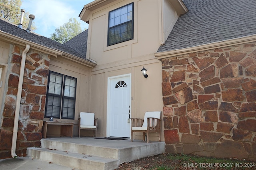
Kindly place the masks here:
[(78, 119), (78, 136), (80, 130), (94, 130), (93, 136), (97, 137), (98, 119), (95, 119), (94, 113), (80, 112)]

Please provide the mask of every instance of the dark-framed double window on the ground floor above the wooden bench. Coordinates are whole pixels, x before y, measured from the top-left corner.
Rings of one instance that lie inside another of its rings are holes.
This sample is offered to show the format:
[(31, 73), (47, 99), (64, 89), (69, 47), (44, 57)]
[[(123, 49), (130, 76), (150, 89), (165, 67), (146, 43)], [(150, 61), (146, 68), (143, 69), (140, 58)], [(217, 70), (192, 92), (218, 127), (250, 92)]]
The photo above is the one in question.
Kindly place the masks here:
[(44, 117), (74, 119), (76, 78), (49, 71)]

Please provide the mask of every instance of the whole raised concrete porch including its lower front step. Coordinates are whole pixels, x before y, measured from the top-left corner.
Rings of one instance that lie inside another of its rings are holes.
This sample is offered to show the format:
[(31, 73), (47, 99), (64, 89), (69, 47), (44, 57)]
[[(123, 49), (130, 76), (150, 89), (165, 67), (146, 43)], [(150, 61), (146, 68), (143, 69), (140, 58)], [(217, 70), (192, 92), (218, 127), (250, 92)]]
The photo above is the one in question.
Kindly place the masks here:
[(164, 152), (165, 143), (106, 140), (93, 137), (41, 139), (41, 148), (28, 148), (29, 157), (79, 170), (114, 170), (124, 162)]

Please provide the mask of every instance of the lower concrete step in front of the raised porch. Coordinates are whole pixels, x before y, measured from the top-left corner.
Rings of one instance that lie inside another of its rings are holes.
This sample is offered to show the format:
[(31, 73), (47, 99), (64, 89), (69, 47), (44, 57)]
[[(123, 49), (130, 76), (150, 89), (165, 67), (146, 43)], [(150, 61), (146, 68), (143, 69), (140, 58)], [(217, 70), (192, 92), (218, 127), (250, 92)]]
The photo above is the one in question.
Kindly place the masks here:
[(27, 154), (32, 158), (80, 170), (111, 170), (113, 167), (118, 166), (117, 159), (56, 149), (31, 147), (27, 149)]

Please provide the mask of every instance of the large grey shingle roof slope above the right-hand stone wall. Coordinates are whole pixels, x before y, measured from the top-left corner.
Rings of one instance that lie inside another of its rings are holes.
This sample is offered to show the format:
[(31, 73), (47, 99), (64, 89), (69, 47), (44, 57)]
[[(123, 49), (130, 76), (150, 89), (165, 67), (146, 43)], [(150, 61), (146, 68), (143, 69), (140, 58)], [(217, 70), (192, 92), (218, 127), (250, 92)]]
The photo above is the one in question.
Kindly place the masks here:
[(256, 0), (183, 0), (180, 16), (157, 52), (256, 34)]

